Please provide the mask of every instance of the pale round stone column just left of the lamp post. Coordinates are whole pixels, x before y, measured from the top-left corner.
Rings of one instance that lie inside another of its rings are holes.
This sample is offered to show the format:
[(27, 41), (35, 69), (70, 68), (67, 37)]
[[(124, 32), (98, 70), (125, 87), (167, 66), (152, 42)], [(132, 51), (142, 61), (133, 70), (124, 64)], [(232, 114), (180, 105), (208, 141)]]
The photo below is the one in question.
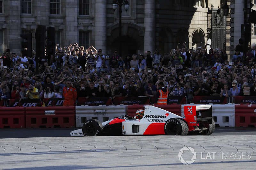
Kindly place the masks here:
[(95, 48), (102, 49), (102, 54), (107, 54), (107, 1), (95, 1)]

